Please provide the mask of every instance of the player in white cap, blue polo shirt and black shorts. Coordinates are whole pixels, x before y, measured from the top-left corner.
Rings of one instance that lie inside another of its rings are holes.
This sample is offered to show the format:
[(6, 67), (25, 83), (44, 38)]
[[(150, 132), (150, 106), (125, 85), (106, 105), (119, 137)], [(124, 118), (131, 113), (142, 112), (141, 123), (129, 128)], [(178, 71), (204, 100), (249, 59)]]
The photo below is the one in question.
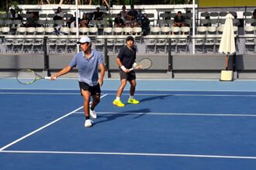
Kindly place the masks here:
[[(81, 51), (76, 53), (68, 64), (58, 73), (51, 76), (51, 80), (55, 80), (58, 76), (70, 72), (74, 66), (78, 68), (78, 83), (81, 90), (81, 96), (84, 98), (84, 112), (85, 112), (85, 127), (92, 127), (92, 118), (97, 118), (95, 107), (100, 100), (100, 87), (103, 84), (103, 77), (105, 74), (105, 66), (103, 64), (102, 53), (95, 49), (91, 49), (92, 42), (88, 36), (83, 36), (79, 41)], [(99, 71), (100, 69), (100, 76)], [(92, 104), (90, 99), (92, 96)]]

